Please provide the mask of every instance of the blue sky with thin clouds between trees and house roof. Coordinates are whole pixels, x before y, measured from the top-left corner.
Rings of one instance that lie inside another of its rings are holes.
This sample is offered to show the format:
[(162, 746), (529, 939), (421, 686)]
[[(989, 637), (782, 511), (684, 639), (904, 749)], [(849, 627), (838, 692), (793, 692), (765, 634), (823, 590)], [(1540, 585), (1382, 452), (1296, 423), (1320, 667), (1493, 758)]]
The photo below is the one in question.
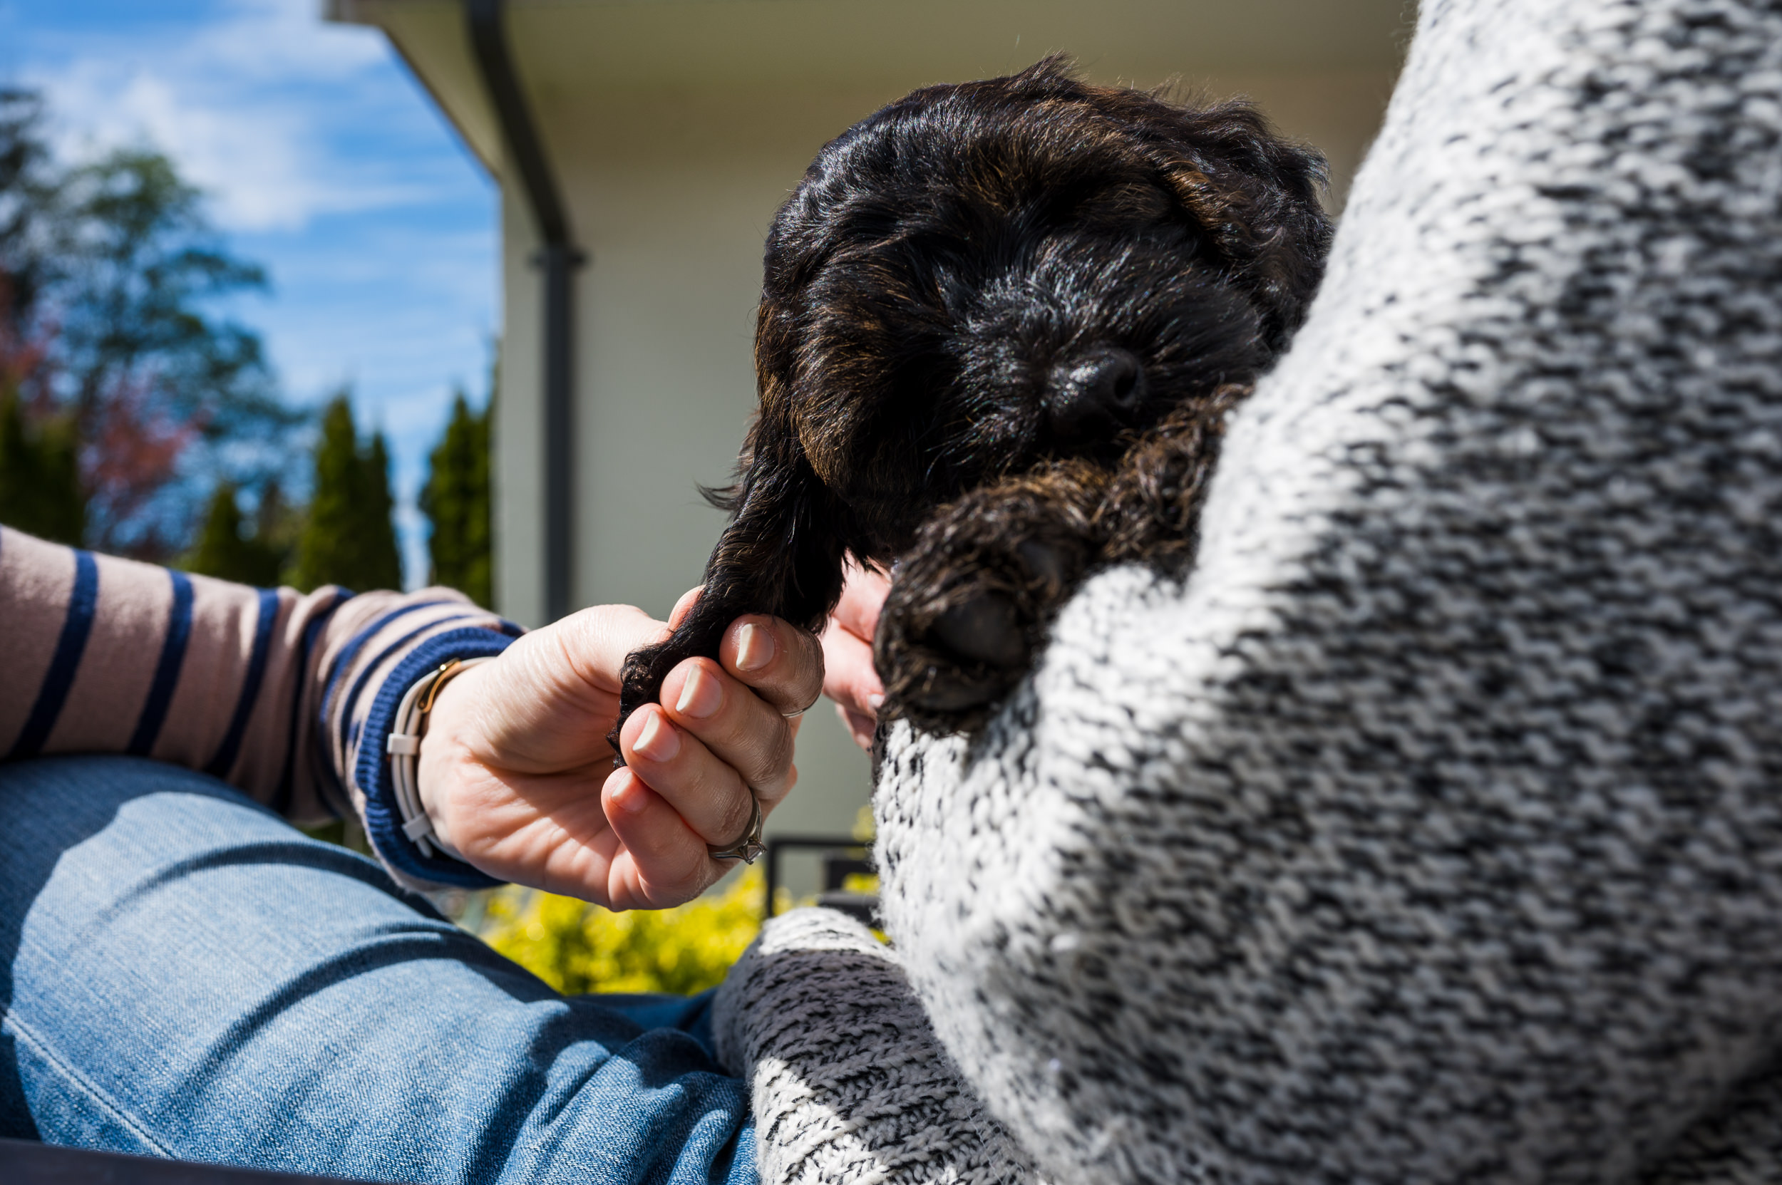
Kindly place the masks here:
[(39, 87), (59, 151), (153, 144), (273, 290), (258, 328), (287, 397), (351, 383), (390, 438), (410, 584), (413, 495), (462, 385), (486, 394), (495, 189), (374, 29), (319, 0), (0, 0), (0, 80)]

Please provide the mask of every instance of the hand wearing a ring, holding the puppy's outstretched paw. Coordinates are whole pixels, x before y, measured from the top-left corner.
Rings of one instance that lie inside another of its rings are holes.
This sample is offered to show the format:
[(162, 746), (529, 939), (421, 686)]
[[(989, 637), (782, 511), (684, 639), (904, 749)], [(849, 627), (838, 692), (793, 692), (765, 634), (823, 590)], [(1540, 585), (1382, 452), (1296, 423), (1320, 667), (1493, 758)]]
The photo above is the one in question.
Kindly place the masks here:
[(686, 659), (633, 713), (615, 770), (620, 670), (666, 631), (629, 606), (583, 609), (451, 679), (419, 763), (440, 839), (492, 877), (609, 909), (679, 905), (734, 868), (706, 845), (741, 838), (750, 789), (766, 814), (793, 788), (784, 713), (816, 700), (822, 652), (779, 618), (736, 618), (716, 661)]

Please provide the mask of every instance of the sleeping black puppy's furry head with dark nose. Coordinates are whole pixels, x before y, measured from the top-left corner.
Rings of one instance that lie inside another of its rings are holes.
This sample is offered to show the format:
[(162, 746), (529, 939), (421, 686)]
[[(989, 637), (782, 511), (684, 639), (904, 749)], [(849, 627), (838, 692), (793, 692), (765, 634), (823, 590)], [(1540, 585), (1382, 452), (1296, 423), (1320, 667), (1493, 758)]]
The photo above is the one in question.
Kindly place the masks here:
[(873, 558), (998, 474), (1112, 456), (1299, 326), (1322, 178), (1246, 103), (1060, 59), (916, 91), (827, 144), (773, 221), (750, 454), (807, 465)]

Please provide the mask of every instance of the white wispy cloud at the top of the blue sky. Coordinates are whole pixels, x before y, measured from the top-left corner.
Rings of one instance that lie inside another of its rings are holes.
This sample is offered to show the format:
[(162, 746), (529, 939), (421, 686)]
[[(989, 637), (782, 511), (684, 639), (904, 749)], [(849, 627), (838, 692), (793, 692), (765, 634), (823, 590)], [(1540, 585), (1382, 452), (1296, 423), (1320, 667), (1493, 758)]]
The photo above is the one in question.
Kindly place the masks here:
[(233, 0), (168, 36), (84, 37), (25, 73), (73, 155), (150, 143), (212, 198), (226, 230), (301, 230), (319, 214), (422, 198), (426, 187), (339, 150), (367, 89), (387, 86), (380, 36), (326, 25), (314, 0)]

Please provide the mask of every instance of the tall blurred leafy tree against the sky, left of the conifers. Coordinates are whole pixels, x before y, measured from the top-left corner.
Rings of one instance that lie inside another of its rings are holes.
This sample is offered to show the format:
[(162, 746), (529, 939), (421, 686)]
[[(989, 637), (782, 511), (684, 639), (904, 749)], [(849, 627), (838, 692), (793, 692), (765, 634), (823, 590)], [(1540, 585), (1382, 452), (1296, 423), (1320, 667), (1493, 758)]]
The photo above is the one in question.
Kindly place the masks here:
[(198, 490), (262, 485), (299, 422), (258, 335), (216, 312), (266, 289), (266, 274), (223, 249), (198, 191), (159, 153), (116, 151), (75, 169), (62, 203), (75, 267), (62, 287), (59, 394), (87, 445), (93, 542), (166, 554)]

